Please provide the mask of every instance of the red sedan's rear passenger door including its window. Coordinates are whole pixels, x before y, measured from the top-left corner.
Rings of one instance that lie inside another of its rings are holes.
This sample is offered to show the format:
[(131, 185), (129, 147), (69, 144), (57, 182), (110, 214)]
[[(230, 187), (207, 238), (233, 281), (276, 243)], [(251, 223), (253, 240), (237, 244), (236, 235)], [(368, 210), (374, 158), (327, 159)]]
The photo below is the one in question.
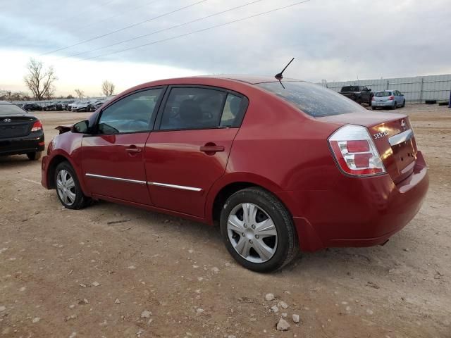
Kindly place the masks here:
[(247, 98), (213, 87), (170, 87), (146, 144), (155, 206), (204, 216), (206, 194), (225, 172)]

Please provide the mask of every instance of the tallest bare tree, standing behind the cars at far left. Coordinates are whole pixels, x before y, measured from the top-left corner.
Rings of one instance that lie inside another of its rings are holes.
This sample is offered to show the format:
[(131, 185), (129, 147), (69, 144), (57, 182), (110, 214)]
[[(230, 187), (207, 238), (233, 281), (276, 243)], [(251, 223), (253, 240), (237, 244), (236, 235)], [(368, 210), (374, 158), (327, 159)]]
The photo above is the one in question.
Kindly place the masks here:
[(44, 64), (41, 61), (30, 58), (27, 64), (27, 72), (23, 80), (36, 100), (41, 101), (54, 94), (54, 82), (58, 80), (58, 77), (56, 77), (52, 66), (44, 70)]

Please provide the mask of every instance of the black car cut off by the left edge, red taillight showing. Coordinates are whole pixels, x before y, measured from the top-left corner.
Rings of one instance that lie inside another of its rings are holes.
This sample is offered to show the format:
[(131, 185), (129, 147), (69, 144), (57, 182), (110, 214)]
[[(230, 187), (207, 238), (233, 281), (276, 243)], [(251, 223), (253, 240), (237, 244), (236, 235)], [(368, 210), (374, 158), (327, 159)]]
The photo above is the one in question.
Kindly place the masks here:
[(37, 160), (44, 151), (44, 130), (35, 116), (0, 101), (0, 156), (26, 154)]

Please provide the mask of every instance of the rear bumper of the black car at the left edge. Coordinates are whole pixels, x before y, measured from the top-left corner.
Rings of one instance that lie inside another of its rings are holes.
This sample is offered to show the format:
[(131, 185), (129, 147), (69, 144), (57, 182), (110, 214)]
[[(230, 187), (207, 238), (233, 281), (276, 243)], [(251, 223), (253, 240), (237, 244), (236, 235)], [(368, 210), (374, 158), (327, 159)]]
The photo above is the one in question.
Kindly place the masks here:
[(18, 155), (44, 151), (44, 132), (32, 132), (23, 137), (0, 139), (0, 155)]

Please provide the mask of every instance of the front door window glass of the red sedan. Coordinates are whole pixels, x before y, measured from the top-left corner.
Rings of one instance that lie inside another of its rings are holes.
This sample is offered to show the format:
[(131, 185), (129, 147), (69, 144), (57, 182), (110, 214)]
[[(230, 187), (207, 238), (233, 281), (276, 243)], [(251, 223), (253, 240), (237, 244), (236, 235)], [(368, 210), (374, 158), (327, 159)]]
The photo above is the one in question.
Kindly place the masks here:
[(99, 134), (146, 132), (152, 129), (156, 103), (163, 89), (148, 89), (126, 96), (106, 108), (100, 116)]

